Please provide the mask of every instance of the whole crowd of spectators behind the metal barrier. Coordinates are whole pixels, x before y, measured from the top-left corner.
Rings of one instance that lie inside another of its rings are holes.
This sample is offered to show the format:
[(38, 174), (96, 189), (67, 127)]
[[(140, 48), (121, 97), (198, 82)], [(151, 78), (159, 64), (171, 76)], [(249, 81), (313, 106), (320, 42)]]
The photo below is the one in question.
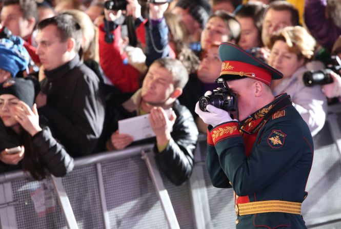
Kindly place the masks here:
[[(339, 1), (305, 0), (301, 25), (297, 8), (282, 0), (5, 0), (0, 172), (63, 176), (74, 157), (153, 142), (159, 168), (182, 184), (193, 170), (198, 131), (207, 131), (195, 103), (218, 87), (222, 42), (282, 72), (272, 93), (288, 93), (316, 135), (328, 102), (341, 96), (340, 72), (313, 87), (303, 76), (331, 59), (341, 64), (339, 9)], [(148, 113), (155, 137), (119, 133), (119, 120)]]

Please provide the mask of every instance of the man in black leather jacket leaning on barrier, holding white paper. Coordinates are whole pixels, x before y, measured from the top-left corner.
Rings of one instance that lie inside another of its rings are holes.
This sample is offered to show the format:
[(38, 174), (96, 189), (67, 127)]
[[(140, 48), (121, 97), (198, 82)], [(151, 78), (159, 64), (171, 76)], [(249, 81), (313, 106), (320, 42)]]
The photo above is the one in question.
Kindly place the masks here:
[[(118, 133), (117, 121), (147, 114), (154, 138), (134, 143), (155, 142), (154, 152), (159, 168), (176, 185), (186, 181), (192, 173), (194, 149), (198, 130), (190, 111), (179, 104), (177, 97), (188, 81), (186, 68), (179, 60), (157, 59), (150, 66), (142, 88), (128, 97), (127, 94), (109, 99), (105, 139), (108, 150), (121, 150), (133, 138)], [(165, 110), (172, 108), (170, 117)]]

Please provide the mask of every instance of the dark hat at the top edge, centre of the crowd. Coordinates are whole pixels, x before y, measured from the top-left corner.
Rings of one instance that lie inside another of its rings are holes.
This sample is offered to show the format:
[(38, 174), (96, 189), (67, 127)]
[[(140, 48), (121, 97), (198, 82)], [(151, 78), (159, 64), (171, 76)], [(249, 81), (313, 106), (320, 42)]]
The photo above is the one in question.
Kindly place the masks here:
[(212, 11), (207, 0), (179, 0), (175, 6), (187, 10), (203, 29)]

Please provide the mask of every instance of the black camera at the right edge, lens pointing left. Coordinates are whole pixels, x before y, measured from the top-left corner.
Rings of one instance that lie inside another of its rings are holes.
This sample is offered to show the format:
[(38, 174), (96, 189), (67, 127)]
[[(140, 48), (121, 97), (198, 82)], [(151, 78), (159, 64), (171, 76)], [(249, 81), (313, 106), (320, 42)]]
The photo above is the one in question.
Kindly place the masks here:
[(334, 81), (330, 75), (331, 71), (341, 75), (341, 60), (337, 55), (331, 56), (330, 63), (326, 69), (305, 72), (303, 82), (307, 87), (330, 84)]

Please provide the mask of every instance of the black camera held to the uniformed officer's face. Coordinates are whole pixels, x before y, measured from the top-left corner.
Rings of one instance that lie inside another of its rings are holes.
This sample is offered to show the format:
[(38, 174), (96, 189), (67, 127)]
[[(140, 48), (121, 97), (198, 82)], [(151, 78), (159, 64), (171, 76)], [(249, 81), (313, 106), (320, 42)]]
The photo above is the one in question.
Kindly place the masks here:
[(215, 82), (220, 86), (213, 90), (212, 95), (202, 96), (199, 98), (199, 108), (202, 111), (207, 111), (207, 105), (212, 105), (216, 108), (225, 111), (237, 110), (237, 96), (232, 92), (223, 78), (217, 78)]

